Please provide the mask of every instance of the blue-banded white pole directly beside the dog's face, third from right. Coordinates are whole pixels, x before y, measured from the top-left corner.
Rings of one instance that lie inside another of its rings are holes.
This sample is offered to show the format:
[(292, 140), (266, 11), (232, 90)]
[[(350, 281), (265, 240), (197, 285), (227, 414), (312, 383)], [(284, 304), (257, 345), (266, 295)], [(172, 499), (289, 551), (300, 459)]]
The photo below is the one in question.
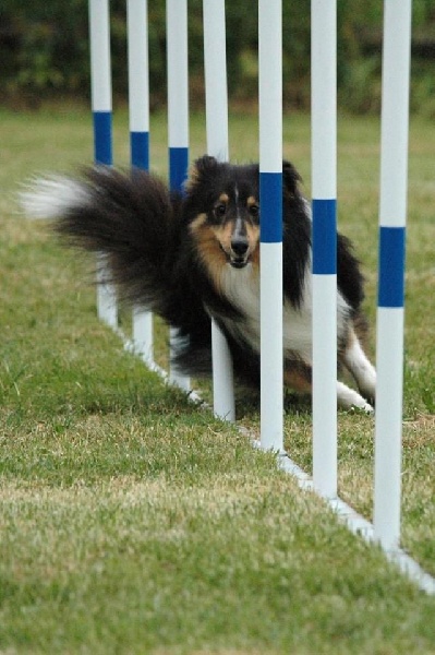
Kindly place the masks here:
[(261, 445), (283, 450), (282, 3), (259, 0)]

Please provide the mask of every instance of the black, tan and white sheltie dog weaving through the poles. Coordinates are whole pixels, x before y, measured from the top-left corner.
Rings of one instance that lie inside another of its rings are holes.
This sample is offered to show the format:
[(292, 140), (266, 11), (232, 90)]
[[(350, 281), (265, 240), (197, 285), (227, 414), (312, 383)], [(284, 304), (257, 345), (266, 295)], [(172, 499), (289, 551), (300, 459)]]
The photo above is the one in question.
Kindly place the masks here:
[[(312, 379), (311, 211), (294, 167), (285, 162), (282, 174), (285, 383), (305, 394)], [(105, 253), (120, 298), (178, 329), (172, 364), (180, 372), (212, 372), (213, 317), (227, 337), (237, 378), (257, 385), (258, 186), (258, 165), (204, 156), (183, 195), (170, 194), (145, 171), (96, 167), (77, 178), (38, 180), (24, 193), (24, 205), (29, 215), (55, 219), (70, 243)], [(362, 347), (363, 277), (349, 240), (337, 239), (338, 368), (348, 369), (359, 389), (337, 382), (337, 400), (341, 407), (371, 412), (376, 373)]]

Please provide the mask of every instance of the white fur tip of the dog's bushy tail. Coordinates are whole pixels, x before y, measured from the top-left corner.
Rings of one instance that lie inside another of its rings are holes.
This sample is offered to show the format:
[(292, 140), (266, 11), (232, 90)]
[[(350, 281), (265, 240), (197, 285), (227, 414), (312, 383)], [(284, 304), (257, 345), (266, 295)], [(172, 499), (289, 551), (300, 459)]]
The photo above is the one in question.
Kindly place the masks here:
[(19, 195), (27, 218), (59, 218), (88, 202), (86, 187), (68, 177), (51, 176), (31, 181)]

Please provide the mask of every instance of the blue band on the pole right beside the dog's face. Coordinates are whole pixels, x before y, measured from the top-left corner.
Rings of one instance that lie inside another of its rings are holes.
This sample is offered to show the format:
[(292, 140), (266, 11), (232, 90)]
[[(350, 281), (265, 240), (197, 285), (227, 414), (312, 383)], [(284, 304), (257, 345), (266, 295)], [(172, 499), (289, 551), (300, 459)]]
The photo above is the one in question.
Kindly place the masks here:
[(259, 174), (261, 240), (282, 242), (282, 174)]

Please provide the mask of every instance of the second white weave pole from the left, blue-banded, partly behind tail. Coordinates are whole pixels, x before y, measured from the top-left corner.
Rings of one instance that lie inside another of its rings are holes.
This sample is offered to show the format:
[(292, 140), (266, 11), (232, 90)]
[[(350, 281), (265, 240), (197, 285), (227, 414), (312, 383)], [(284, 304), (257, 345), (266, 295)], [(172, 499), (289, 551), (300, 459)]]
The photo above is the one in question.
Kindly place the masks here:
[[(131, 164), (149, 169), (149, 84), (147, 0), (128, 0), (129, 120)], [(153, 313), (133, 310), (133, 344), (144, 361), (152, 364)]]

